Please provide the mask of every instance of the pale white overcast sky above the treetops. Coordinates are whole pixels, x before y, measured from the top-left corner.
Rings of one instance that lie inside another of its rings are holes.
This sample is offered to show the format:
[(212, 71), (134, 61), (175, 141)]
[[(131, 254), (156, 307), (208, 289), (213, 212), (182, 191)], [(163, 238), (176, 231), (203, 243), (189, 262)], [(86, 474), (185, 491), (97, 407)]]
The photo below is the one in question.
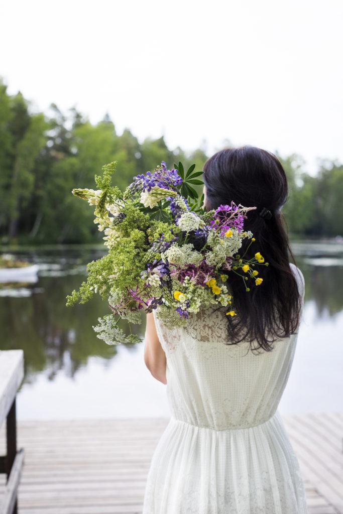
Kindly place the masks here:
[(343, 161), (341, 0), (3, 0), (0, 76), (171, 148)]

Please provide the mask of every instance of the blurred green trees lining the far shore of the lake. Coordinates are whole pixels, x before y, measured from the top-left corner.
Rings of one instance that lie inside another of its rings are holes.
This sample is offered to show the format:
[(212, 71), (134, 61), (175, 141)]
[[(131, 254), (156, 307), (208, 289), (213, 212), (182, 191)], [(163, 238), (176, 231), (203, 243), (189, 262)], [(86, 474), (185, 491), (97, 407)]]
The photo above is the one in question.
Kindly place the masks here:
[[(0, 242), (89, 243), (99, 238), (93, 210), (70, 192), (94, 188), (94, 175), (117, 160), (116, 185), (125, 188), (137, 173), (193, 162), (197, 170), (204, 150), (168, 148), (163, 137), (143, 142), (125, 129), (118, 134), (108, 115), (92, 124), (75, 108), (62, 113), (51, 104), (49, 115), (34, 112), (21, 93), (9, 95), (0, 82)], [(316, 175), (304, 171), (293, 154), (280, 158), (290, 195), (283, 213), (292, 235), (343, 235), (343, 165), (322, 161)]]

